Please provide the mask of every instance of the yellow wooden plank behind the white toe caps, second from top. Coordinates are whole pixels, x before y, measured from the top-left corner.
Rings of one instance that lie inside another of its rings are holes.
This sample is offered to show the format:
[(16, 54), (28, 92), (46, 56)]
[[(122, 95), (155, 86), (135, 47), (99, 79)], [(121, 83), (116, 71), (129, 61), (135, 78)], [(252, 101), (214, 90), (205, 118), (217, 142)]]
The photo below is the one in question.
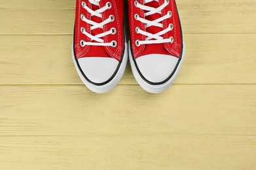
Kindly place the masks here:
[[(256, 35), (185, 35), (187, 54), (176, 84), (255, 84)], [(82, 84), (72, 37), (1, 36), (0, 84)], [(130, 66), (120, 84), (137, 84)]]

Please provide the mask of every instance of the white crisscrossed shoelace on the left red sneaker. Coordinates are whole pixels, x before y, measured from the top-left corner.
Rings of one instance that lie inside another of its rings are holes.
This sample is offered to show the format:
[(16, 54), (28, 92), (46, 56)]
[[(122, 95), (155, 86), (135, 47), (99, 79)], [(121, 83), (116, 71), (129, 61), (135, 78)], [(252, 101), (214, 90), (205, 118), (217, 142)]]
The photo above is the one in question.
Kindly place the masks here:
[[(99, 7), (100, 7), (100, 1), (101, 0), (89, 0), (89, 2), (92, 5), (97, 5)], [(87, 7), (86, 3), (84, 1), (82, 1), (82, 8), (87, 10), (91, 14), (91, 16), (98, 16), (100, 18), (102, 18), (102, 14), (101, 13), (104, 12), (105, 10), (111, 9), (111, 7), (112, 7), (111, 3), (107, 2), (104, 7), (94, 11), (94, 10), (90, 9), (89, 7)], [(92, 30), (97, 29), (97, 28), (103, 29), (103, 26), (105, 24), (109, 24), (110, 22), (113, 22), (115, 20), (115, 16), (111, 15), (111, 16), (109, 16), (109, 18), (107, 18), (107, 20), (105, 20), (103, 22), (100, 22), (100, 23), (97, 23), (97, 22), (94, 22), (92, 20), (88, 20), (84, 16), (84, 14), (81, 14), (81, 20), (83, 22), (86, 22), (86, 23), (90, 24), (91, 25), (90, 29), (92, 31)], [(115, 33), (117, 33), (117, 29), (115, 29), (115, 27), (112, 27), (109, 31), (100, 33), (98, 35), (91, 35), (90, 33), (88, 33), (86, 31), (86, 29), (84, 27), (81, 27), (81, 33), (83, 33), (84, 35), (89, 37), (91, 39), (91, 41), (96, 41), (96, 42), (86, 42), (84, 40), (81, 40), (80, 41), (81, 46), (86, 46), (86, 45), (92, 45), (92, 46), (113, 46), (113, 47), (117, 46), (117, 41), (104, 42), (104, 40), (101, 39), (102, 37), (110, 35), (110, 34), (111, 35), (115, 35)]]

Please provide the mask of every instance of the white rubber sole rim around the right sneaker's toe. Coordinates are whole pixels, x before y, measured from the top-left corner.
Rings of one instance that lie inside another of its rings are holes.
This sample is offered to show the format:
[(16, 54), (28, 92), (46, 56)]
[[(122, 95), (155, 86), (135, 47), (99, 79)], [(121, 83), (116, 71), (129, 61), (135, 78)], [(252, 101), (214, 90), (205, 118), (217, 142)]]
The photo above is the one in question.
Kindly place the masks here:
[(174, 83), (175, 79), (177, 78), (177, 75), (179, 74), (179, 71), (181, 70), (181, 66), (183, 64), (184, 58), (185, 58), (185, 44), (183, 45), (181, 61), (179, 61), (179, 65), (178, 65), (174, 75), (172, 76), (172, 78), (170, 78), (170, 80), (168, 80), (168, 82), (165, 82), (164, 84), (152, 85), (152, 84), (145, 82), (145, 80), (143, 80), (143, 78), (139, 75), (139, 73), (136, 69), (135, 63), (134, 63), (134, 59), (132, 59), (132, 51), (131, 51), (130, 42), (129, 42), (129, 59), (130, 59), (131, 67), (132, 67), (132, 73), (134, 73), (134, 77), (135, 77), (137, 83), (139, 84), (139, 86), (141, 86), (141, 88), (143, 88), (145, 91), (147, 91), (149, 93), (162, 93), (162, 92), (166, 91)]

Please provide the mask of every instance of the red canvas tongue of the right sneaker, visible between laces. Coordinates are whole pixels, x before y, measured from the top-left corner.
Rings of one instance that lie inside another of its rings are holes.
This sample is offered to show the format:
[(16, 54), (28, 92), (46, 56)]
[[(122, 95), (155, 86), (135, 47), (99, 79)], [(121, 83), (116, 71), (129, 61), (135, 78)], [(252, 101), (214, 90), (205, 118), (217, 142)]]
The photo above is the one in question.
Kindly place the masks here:
[[(146, 3), (145, 5), (147, 5), (148, 7), (153, 7), (153, 8), (158, 8), (159, 7), (159, 3), (156, 1), (151, 1), (150, 3)], [(148, 11), (145, 11), (148, 12)], [(153, 15), (149, 15), (146, 16), (145, 19), (149, 20), (149, 21), (154, 21), (158, 18), (160, 18), (162, 16), (162, 14), (153, 14)], [(147, 27), (146, 31), (148, 33), (152, 33), (152, 34), (156, 34), (160, 31), (162, 31), (162, 27), (156, 27), (156, 26), (151, 26), (151, 27)], [(154, 40), (154, 39), (151, 39)], [(152, 50), (154, 49), (154, 50)], [(146, 44), (145, 45), (145, 49), (143, 50), (143, 52), (141, 53), (141, 56), (145, 56), (147, 54), (170, 54), (166, 48), (164, 47), (164, 44)]]

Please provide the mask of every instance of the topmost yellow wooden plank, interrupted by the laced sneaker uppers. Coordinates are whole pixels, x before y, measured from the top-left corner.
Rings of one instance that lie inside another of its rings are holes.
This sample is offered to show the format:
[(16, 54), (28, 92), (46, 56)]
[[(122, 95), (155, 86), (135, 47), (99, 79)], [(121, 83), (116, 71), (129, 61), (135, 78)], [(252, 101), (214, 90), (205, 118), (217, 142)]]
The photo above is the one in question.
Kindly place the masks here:
[[(177, 1), (184, 33), (256, 33), (255, 0)], [(0, 2), (0, 34), (73, 33), (75, 1)]]

